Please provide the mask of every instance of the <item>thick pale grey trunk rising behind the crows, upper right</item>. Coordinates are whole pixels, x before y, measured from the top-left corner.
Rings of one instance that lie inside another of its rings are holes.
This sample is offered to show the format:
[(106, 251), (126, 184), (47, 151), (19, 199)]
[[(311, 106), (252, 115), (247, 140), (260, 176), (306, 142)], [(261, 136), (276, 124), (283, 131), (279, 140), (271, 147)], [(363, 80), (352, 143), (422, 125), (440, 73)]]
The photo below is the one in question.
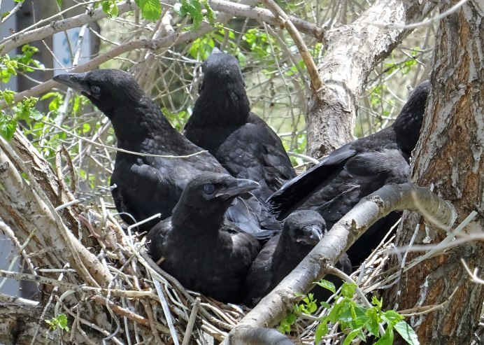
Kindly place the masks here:
[(432, 1), (380, 0), (352, 24), (327, 31), (326, 55), (318, 66), (324, 85), (313, 92), (306, 116), (308, 155), (322, 157), (353, 140), (366, 77), (411, 32), (383, 25), (418, 22), (434, 6)]

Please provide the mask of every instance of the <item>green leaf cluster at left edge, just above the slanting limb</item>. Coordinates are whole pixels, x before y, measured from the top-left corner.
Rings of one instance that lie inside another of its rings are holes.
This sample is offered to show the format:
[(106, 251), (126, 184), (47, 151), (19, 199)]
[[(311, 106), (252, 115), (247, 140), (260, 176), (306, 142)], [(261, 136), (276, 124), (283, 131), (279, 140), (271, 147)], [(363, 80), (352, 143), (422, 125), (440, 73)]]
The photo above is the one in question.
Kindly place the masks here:
[[(13, 101), (13, 96), (15, 92), (11, 90), (6, 90), (0, 92), (0, 97), (3, 98), (7, 104), (15, 104)], [(38, 99), (35, 97), (25, 98), (13, 106), (11, 113), (6, 113), (6, 111), (0, 111), (0, 135), (3, 138), (10, 140), (15, 133), (17, 128), (17, 122), (23, 120), (27, 124), (31, 123), (31, 120), (40, 120), (42, 114), (37, 111), (35, 105)]]

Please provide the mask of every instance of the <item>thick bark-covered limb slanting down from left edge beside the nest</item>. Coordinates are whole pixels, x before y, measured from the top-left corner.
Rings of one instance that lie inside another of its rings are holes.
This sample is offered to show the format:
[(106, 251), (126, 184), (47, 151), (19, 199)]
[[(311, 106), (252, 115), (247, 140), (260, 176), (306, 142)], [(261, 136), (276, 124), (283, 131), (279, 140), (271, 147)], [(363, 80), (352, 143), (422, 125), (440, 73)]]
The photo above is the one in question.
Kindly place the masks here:
[[(22, 135), (16, 134), (12, 140), (15, 142), (19, 138)], [(25, 249), (36, 267), (61, 269), (67, 262), (81, 277), (71, 276), (72, 282), (107, 286), (112, 279), (111, 273), (74, 237), (52, 205), (62, 200), (62, 193), (55, 194), (47, 189), (51, 192), (48, 194), (42, 188), (58, 184), (53, 182), (56, 178), (52, 169), (43, 170), (47, 163), (35, 154), (36, 149), (27, 141), (23, 144), (27, 145), (23, 154), (29, 155), (29, 160), (20, 159), (12, 146), (0, 138), (0, 218), (15, 232), (21, 244), (28, 243)], [(20, 143), (13, 146), (18, 147), (16, 145), (22, 146)], [(37, 162), (42, 164), (36, 166)], [(38, 180), (38, 174), (43, 178)]]

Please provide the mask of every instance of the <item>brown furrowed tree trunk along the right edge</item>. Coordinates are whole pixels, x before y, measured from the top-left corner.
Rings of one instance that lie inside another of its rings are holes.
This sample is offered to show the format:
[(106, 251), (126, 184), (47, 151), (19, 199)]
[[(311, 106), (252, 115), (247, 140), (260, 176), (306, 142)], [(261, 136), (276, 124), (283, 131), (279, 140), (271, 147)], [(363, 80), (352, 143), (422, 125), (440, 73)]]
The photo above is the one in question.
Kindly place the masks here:
[[(441, 1), (440, 12), (455, 3)], [(459, 221), (472, 210), (478, 211), (467, 232), (482, 231), (484, 225), (483, 14), (478, 1), (468, 1), (439, 24), (432, 90), (412, 178), (418, 185), (433, 183), (441, 197), (453, 202)], [(408, 244), (418, 222), (418, 216), (406, 213), (397, 246)], [(429, 238), (433, 243), (441, 241), (443, 235), (428, 226), (426, 231), (420, 230), (415, 244), (428, 243)], [(407, 260), (415, 255), (409, 253)], [(411, 309), (451, 299), (442, 309), (411, 318), (420, 344), (470, 343), (481, 315), (484, 288), (469, 280), (460, 259), (483, 272), (483, 255), (482, 243), (458, 246), (411, 269), (401, 277), (401, 285), (386, 292), (389, 308)], [(391, 262), (391, 266), (397, 265), (396, 259)], [(399, 299), (397, 290), (401, 290)]]

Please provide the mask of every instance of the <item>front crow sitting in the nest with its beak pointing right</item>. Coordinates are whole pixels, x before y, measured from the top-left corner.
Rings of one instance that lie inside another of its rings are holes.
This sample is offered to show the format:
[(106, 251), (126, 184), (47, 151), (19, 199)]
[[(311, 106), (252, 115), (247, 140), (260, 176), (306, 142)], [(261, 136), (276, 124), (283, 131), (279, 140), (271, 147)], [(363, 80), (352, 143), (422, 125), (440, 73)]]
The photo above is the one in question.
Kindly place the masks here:
[(260, 250), (250, 234), (225, 221), (237, 195), (259, 185), (227, 174), (203, 173), (187, 184), (173, 216), (148, 233), (149, 253), (185, 288), (222, 302), (242, 300), (243, 281)]

